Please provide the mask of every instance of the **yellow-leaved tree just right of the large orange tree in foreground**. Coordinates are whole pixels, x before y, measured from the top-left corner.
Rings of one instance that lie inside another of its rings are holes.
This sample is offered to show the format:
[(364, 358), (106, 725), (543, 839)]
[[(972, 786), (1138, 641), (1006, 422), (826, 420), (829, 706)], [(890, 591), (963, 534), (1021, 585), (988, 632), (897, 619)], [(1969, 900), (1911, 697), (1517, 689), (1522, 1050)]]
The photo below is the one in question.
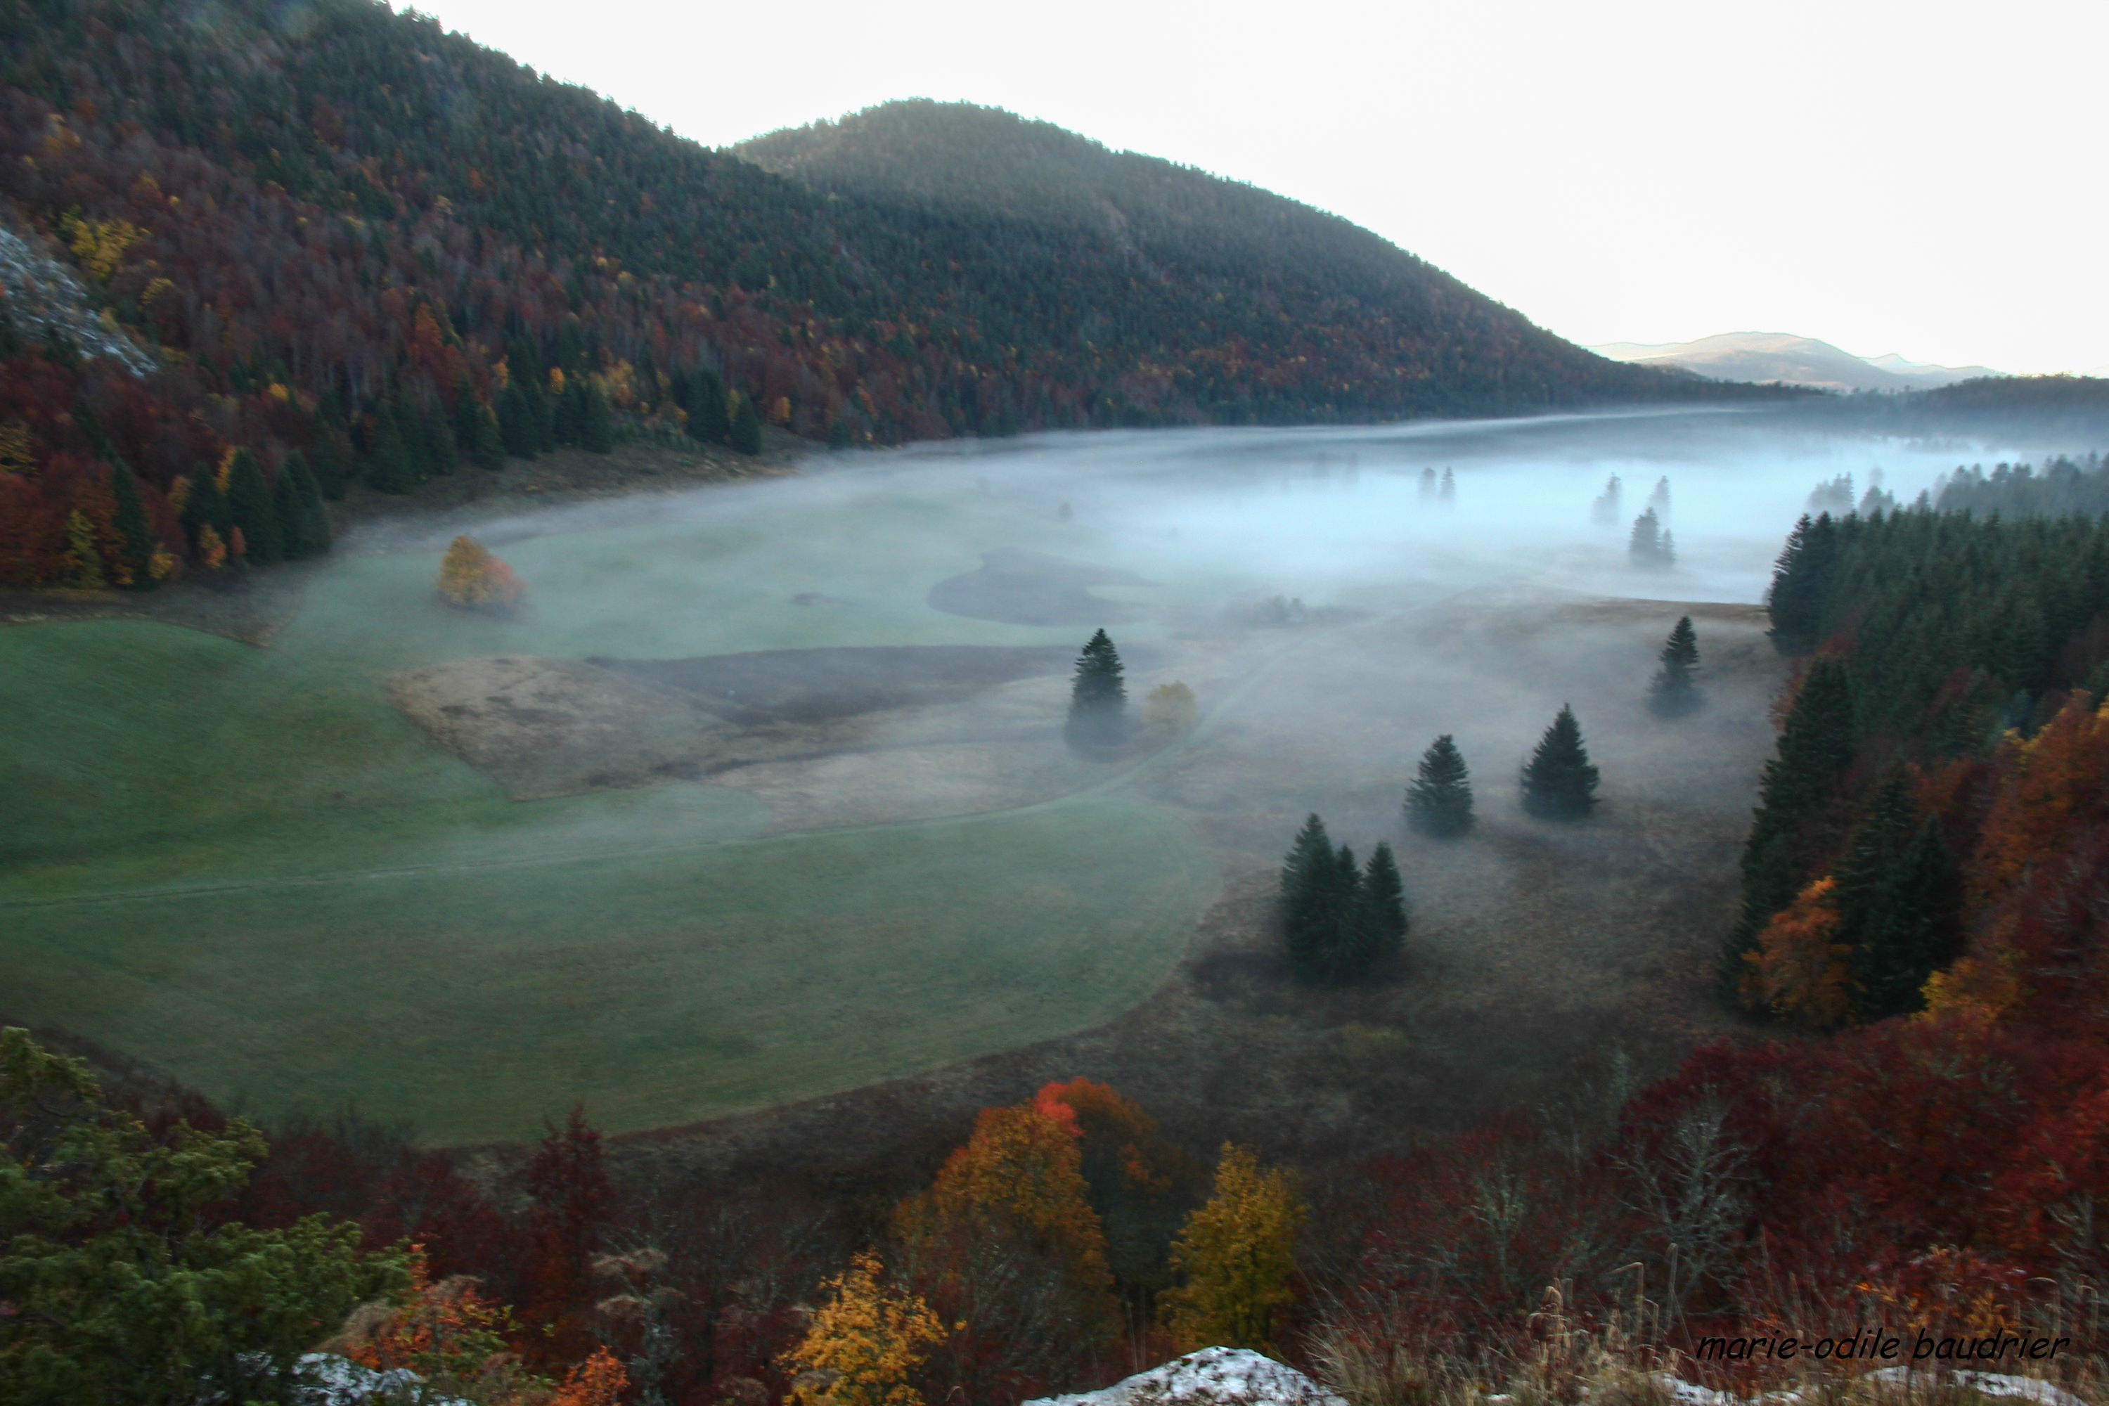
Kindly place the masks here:
[(1274, 1311), (1293, 1298), (1297, 1229), (1310, 1206), (1282, 1168), (1261, 1168), (1249, 1147), (1223, 1143), (1208, 1204), (1173, 1242), (1185, 1284), (1166, 1290), (1164, 1326), (1181, 1351), (1251, 1347), (1274, 1355)]

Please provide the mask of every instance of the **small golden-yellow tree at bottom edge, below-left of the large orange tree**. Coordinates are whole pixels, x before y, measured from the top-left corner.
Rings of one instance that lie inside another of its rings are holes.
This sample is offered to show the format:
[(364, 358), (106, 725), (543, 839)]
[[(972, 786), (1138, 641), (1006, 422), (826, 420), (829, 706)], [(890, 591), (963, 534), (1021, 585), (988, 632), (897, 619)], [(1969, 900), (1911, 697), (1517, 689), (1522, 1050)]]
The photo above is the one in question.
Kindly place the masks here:
[(863, 1252), (823, 1284), (827, 1303), (806, 1336), (778, 1360), (797, 1406), (922, 1406), (915, 1372), (945, 1326), (922, 1296), (886, 1280)]

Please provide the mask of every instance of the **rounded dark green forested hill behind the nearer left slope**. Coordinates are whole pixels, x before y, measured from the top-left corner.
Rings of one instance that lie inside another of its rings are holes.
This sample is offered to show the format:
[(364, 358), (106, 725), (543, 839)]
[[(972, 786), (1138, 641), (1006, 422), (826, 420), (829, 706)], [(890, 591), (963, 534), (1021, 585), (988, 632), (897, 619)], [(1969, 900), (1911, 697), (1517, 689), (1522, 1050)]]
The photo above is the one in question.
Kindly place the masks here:
[(1696, 390), (1584, 352), (1337, 215), (995, 108), (884, 103), (732, 150), (913, 223), (987, 335), (1067, 344), (1116, 398), (1305, 422)]

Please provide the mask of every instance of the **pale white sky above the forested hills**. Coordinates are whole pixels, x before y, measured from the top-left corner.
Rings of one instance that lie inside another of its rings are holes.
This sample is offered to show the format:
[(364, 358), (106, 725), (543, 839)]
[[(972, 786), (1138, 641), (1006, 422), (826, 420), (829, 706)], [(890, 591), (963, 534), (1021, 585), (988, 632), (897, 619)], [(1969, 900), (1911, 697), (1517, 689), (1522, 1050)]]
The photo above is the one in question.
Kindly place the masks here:
[(707, 145), (894, 97), (1046, 118), (1582, 344), (2109, 373), (2109, 0), (420, 8)]

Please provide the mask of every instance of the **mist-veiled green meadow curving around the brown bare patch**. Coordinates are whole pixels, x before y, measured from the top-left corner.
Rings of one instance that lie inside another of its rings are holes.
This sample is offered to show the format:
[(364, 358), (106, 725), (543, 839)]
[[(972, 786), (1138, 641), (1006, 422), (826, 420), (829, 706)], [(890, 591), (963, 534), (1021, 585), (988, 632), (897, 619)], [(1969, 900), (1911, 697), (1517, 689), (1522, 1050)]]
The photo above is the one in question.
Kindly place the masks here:
[(1052, 531), (877, 495), (506, 544), (534, 592), (510, 622), (439, 607), (432, 552), (331, 563), (268, 649), (0, 630), (0, 1010), (264, 1117), (356, 1105), (434, 1143), (572, 1100), (685, 1121), (1105, 1020), (1217, 885), (1166, 812), (757, 839), (717, 786), (515, 803), (382, 694), (487, 653), (1078, 643), (924, 603), (979, 550), (1088, 552)]

